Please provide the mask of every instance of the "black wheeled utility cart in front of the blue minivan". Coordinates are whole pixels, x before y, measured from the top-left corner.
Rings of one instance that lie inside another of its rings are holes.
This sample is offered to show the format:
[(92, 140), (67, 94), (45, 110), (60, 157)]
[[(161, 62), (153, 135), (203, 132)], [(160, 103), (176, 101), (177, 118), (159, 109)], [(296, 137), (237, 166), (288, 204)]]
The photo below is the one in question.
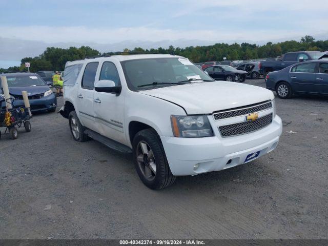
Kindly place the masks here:
[[(6, 128), (5, 133), (9, 132), (12, 139), (18, 137), (17, 128), (22, 126), (25, 127), (26, 132), (32, 130), (29, 119), (32, 117), (29, 115), (28, 109), (25, 107), (16, 107), (7, 109), (6, 107), (1, 108), (2, 98), (0, 97), (0, 128)], [(1, 139), (1, 130), (0, 130)]]

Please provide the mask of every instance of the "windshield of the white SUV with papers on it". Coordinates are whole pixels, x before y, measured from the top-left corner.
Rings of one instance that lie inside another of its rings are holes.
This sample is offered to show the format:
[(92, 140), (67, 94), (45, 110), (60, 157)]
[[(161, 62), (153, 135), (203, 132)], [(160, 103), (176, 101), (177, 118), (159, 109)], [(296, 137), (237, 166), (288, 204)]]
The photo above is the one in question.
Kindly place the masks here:
[(187, 58), (135, 59), (121, 61), (121, 65), (132, 91), (183, 85), (192, 80), (214, 81)]

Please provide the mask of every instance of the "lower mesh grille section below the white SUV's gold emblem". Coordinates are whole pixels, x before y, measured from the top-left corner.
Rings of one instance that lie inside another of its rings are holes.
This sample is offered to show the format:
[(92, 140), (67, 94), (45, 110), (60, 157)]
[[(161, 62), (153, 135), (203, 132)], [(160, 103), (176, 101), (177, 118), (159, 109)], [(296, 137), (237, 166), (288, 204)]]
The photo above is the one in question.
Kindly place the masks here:
[(272, 114), (265, 115), (255, 121), (245, 121), (237, 124), (218, 127), (222, 137), (231, 137), (257, 131), (272, 122)]

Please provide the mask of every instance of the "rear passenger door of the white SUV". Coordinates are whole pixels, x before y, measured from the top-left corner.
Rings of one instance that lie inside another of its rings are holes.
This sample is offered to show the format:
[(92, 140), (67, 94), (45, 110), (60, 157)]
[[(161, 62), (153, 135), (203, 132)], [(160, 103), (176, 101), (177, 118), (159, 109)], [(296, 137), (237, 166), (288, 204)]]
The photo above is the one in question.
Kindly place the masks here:
[(93, 108), (93, 89), (98, 65), (98, 62), (92, 62), (86, 65), (76, 99), (79, 119), (82, 125), (94, 131), (96, 131), (96, 125)]

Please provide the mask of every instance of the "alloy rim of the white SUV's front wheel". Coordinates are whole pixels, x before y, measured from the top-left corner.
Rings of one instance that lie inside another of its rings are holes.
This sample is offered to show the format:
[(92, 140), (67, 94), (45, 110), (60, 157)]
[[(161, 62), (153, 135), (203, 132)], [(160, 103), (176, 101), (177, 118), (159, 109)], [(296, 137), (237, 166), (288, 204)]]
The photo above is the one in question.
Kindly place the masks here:
[(145, 141), (140, 141), (137, 146), (137, 162), (142, 175), (152, 181), (156, 175), (156, 163), (152, 149)]

